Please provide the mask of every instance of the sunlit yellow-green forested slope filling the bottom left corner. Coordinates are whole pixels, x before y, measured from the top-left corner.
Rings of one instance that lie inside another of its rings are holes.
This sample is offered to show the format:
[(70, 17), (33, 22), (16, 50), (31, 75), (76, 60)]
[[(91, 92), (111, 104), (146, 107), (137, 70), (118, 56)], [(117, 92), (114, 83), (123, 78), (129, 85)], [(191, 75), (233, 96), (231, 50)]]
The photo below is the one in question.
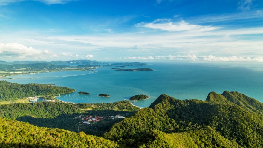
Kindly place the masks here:
[(114, 141), (101, 137), (33, 126), (29, 123), (0, 118), (0, 147), (1, 148), (86, 148), (86, 147), (117, 147)]

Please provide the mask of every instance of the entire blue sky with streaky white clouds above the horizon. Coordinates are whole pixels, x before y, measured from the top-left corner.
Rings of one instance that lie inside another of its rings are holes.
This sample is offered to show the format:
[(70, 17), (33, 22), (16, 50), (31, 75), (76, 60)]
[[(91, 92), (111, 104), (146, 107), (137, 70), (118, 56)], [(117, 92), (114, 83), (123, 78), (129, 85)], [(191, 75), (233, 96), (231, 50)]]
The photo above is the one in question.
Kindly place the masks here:
[(263, 62), (263, 0), (0, 0), (0, 60)]

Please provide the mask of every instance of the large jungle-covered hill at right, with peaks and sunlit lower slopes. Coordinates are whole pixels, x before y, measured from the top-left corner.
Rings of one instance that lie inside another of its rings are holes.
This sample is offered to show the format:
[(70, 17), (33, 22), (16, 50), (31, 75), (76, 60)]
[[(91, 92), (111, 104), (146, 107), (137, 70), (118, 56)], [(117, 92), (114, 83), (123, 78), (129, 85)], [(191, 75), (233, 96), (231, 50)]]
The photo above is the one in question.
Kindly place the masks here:
[(161, 95), (104, 138), (124, 147), (263, 147), (262, 106), (238, 92), (212, 92), (206, 101)]

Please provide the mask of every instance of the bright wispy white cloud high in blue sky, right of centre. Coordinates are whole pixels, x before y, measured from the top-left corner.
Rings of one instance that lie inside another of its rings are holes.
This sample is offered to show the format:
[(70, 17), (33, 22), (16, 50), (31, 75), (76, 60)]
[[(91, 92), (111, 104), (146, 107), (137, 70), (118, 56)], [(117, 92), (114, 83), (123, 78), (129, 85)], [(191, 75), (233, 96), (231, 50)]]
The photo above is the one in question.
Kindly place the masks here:
[(140, 23), (138, 25), (146, 28), (159, 29), (165, 31), (186, 31), (186, 30), (211, 31), (211, 30), (219, 29), (219, 27), (193, 25), (186, 23), (185, 21), (174, 23), (171, 22), (171, 20), (167, 20), (167, 19), (157, 19), (151, 23)]

